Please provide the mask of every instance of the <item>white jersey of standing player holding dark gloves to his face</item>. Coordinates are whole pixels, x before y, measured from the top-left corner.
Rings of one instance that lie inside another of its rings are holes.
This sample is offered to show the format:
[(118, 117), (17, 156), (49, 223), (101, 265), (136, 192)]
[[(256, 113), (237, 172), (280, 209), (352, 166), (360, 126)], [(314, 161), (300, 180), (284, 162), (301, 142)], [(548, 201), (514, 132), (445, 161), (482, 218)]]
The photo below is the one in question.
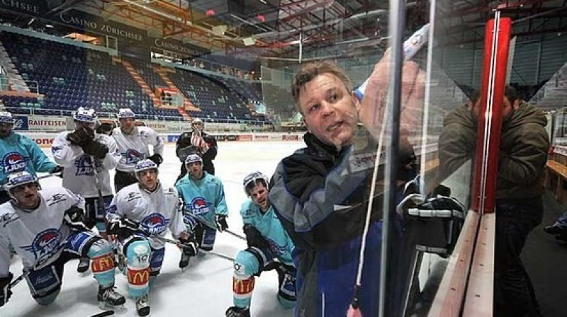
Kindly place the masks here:
[(99, 197), (96, 177), (99, 179), (102, 195), (112, 195), (111, 177), (108, 171), (116, 168), (121, 157), (114, 139), (106, 134), (95, 134), (96, 141), (108, 146), (108, 153), (103, 160), (100, 160), (85, 154), (81, 146), (67, 141), (69, 133), (66, 131), (57, 134), (51, 147), (53, 158), (57, 164), (64, 167), (63, 187), (85, 198)]

